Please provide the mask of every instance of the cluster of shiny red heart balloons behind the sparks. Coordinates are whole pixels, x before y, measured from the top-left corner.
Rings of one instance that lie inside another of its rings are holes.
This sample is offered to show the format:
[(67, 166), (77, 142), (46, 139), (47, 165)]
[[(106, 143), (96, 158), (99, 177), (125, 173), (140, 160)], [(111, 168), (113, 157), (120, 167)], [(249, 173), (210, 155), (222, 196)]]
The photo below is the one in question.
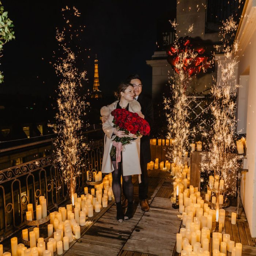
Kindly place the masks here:
[(188, 76), (199, 74), (201, 71), (205, 72), (211, 67), (212, 56), (205, 53), (205, 49), (200, 45), (194, 45), (193, 39), (189, 36), (181, 37), (176, 44), (171, 44), (167, 52), (167, 61), (177, 73), (180, 69), (177, 64), (180, 61), (179, 54), (186, 52), (186, 57), (182, 60), (182, 69), (187, 72)]

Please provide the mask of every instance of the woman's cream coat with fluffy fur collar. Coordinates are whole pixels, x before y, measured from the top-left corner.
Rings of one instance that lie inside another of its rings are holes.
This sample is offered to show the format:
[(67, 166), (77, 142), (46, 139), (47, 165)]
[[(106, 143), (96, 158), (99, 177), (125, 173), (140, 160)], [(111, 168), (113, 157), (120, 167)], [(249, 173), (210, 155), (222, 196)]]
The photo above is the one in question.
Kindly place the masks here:
[[(102, 124), (103, 131), (105, 132), (104, 138), (104, 154), (102, 159), (102, 173), (110, 173), (114, 171), (114, 167), (110, 157), (110, 150), (112, 148), (113, 139), (115, 135), (112, 136), (113, 127), (113, 116), (110, 114), (114, 109), (116, 109), (117, 102), (110, 104), (107, 107), (101, 108), (102, 116), (109, 116), (109, 119)], [(130, 112), (140, 112), (140, 103), (136, 100), (129, 102)], [(131, 140), (129, 144), (123, 146), (122, 151), (122, 162), (123, 162), (123, 176), (141, 174), (140, 170), (140, 138), (136, 140)]]

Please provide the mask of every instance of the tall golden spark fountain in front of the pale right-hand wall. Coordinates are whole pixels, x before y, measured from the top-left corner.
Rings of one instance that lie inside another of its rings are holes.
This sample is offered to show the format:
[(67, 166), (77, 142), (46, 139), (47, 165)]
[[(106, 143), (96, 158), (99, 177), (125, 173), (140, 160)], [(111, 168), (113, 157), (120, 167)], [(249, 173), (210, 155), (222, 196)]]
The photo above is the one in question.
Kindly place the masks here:
[[(236, 124), (236, 89), (238, 87), (235, 78), (237, 57), (234, 54), (238, 50), (238, 42), (234, 42), (233, 47), (229, 44), (229, 39), (234, 35), (237, 25), (231, 16), (222, 26), (222, 42), (224, 42), (225, 60), (219, 62), (218, 68), (221, 70), (221, 79), (214, 83), (211, 93), (214, 101), (211, 104), (211, 111), (214, 116), (214, 125), (212, 127), (212, 140), (209, 143), (210, 161), (206, 161), (206, 155), (202, 155), (202, 171), (209, 173), (214, 170), (214, 175), (219, 175), (224, 180), (224, 192), (227, 196), (227, 188), (232, 188), (230, 172), (234, 173), (237, 168), (237, 157), (231, 152), (235, 148), (233, 135)], [(216, 48), (216, 46), (215, 46)], [(230, 190), (229, 190), (230, 191)]]

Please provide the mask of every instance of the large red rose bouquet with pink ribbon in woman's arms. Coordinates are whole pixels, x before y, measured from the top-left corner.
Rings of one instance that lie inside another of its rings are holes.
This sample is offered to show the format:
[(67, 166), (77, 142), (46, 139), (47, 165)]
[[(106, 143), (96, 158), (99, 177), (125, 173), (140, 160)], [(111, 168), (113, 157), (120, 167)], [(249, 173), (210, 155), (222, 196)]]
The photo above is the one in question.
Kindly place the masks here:
[[(137, 113), (130, 112), (126, 109), (114, 109), (111, 112), (114, 117), (113, 123), (119, 131), (125, 131), (125, 134), (149, 135), (150, 126), (148, 122), (140, 117)], [(123, 145), (129, 144), (133, 140), (131, 137), (118, 137), (116, 136), (113, 141), (113, 146), (110, 151), (112, 157), (116, 157), (117, 163), (121, 161), (121, 151)]]

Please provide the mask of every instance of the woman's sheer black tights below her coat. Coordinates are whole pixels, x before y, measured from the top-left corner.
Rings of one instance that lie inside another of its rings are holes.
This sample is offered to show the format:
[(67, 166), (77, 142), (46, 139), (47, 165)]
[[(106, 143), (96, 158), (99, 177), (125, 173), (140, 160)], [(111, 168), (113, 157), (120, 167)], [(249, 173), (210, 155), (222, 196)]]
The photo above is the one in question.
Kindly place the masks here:
[(132, 176), (123, 176), (123, 166), (122, 163), (118, 163), (118, 169), (116, 168), (116, 161), (112, 161), (114, 166), (114, 171), (112, 172), (112, 190), (116, 200), (116, 203), (121, 203), (121, 175), (123, 179), (123, 193), (125, 198), (129, 203), (133, 202), (133, 184), (132, 184)]

